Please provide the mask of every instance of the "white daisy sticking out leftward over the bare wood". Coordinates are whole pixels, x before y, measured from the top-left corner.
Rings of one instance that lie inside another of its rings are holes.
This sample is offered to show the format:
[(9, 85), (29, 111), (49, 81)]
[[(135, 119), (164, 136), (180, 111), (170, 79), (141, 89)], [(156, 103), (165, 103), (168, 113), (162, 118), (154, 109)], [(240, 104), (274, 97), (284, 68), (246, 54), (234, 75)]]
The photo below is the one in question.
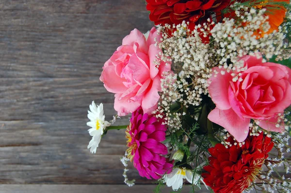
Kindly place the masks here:
[(92, 140), (89, 142), (88, 149), (91, 147), (91, 153), (96, 153), (104, 129), (111, 124), (108, 121), (105, 121), (102, 103), (100, 103), (99, 106), (96, 106), (95, 102), (92, 101), (89, 108), (90, 111), (88, 111), (88, 118), (90, 119), (90, 122), (87, 123), (87, 126), (91, 127), (88, 131), (92, 136)]

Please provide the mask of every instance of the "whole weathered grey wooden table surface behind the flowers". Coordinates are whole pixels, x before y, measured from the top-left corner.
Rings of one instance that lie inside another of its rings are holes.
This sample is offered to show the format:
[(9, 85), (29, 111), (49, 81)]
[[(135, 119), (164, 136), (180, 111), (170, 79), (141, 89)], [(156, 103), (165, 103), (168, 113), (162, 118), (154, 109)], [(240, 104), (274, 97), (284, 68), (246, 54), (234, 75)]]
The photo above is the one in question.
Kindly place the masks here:
[(124, 185), (124, 130), (91, 154), (86, 126), (92, 100), (115, 114), (99, 80), (104, 62), (131, 30), (152, 26), (142, 0), (0, 1), (0, 193), (155, 188), (135, 169), (128, 175), (138, 185)]

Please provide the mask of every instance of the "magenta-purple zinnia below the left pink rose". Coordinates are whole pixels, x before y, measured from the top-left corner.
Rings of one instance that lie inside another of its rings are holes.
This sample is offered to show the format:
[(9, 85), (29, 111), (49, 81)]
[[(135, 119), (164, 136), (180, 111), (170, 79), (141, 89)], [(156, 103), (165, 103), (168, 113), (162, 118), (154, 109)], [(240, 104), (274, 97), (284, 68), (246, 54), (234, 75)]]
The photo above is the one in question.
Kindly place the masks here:
[(143, 113), (142, 108), (132, 113), (130, 125), (126, 131), (128, 139), (128, 158), (140, 176), (148, 179), (160, 179), (172, 171), (173, 161), (169, 162), (162, 155), (168, 149), (161, 142), (165, 140), (166, 126), (153, 115)]

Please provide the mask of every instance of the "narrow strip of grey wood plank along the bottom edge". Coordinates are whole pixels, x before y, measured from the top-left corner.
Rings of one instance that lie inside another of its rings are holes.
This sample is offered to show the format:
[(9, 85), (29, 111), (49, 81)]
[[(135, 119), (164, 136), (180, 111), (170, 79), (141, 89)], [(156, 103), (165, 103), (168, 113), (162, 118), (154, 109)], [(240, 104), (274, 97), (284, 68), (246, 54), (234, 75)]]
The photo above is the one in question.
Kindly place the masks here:
[[(1, 193), (152, 193), (155, 185), (0, 185)], [(171, 192), (172, 189), (165, 187), (161, 193)], [(185, 187), (180, 193), (189, 193), (191, 187)], [(202, 187), (195, 193), (209, 193)]]

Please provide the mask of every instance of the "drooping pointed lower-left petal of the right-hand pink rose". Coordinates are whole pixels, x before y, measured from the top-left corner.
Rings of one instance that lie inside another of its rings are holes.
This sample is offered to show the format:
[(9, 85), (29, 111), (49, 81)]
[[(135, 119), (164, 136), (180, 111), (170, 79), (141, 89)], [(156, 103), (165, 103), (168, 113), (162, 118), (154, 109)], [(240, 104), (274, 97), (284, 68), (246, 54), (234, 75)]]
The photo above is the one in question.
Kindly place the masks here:
[(243, 142), (248, 135), (251, 119), (241, 119), (231, 108), (219, 110), (216, 107), (209, 113), (208, 119), (224, 127), (238, 142)]

